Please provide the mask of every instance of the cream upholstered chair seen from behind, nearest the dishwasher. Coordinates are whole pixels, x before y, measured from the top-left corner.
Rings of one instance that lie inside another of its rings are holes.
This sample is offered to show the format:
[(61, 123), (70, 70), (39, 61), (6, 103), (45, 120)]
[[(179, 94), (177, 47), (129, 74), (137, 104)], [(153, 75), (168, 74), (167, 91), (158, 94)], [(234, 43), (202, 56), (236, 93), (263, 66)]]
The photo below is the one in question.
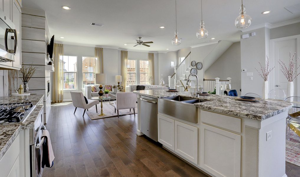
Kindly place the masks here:
[(118, 92), (117, 93), (117, 100), (114, 101), (114, 106), (115, 106), (115, 113), (116, 110), (118, 111), (118, 117), (119, 117), (119, 110), (125, 110), (133, 109), (134, 116), (135, 116), (135, 106), (136, 106), (136, 99), (137, 95), (134, 94), (133, 92)]

